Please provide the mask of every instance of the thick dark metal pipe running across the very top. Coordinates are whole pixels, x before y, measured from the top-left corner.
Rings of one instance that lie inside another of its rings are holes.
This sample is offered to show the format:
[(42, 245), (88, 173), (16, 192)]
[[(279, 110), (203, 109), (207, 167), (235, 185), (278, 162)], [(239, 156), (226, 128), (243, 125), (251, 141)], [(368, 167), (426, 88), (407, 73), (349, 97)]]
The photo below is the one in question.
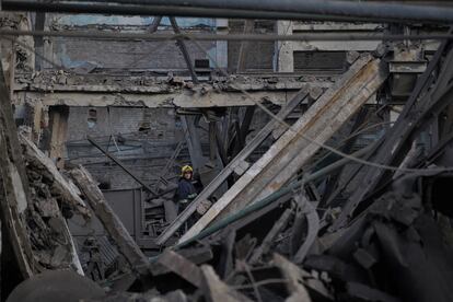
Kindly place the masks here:
[[(332, 0), (133, 0), (123, 3), (43, 3), (36, 1), (3, 0), (2, 10), (74, 13), (113, 13), (137, 15), (184, 15), (210, 18), (243, 18), (272, 20), (333, 20), (358, 19), (394, 22), (452, 23), (453, 9), (400, 3), (332, 1)], [(95, 1), (93, 1), (95, 2)], [(129, 4), (133, 3), (133, 4)], [(141, 5), (136, 5), (140, 3)], [(150, 7), (151, 5), (151, 7)], [(148, 7), (148, 8), (147, 8)], [(170, 7), (173, 7), (170, 9)], [(257, 11), (259, 8), (259, 11)], [(234, 11), (236, 13), (234, 13)], [(242, 15), (237, 14), (241, 13)], [(267, 14), (266, 14), (267, 13)], [(264, 16), (266, 15), (266, 16)], [(311, 16), (312, 15), (312, 16)]]

